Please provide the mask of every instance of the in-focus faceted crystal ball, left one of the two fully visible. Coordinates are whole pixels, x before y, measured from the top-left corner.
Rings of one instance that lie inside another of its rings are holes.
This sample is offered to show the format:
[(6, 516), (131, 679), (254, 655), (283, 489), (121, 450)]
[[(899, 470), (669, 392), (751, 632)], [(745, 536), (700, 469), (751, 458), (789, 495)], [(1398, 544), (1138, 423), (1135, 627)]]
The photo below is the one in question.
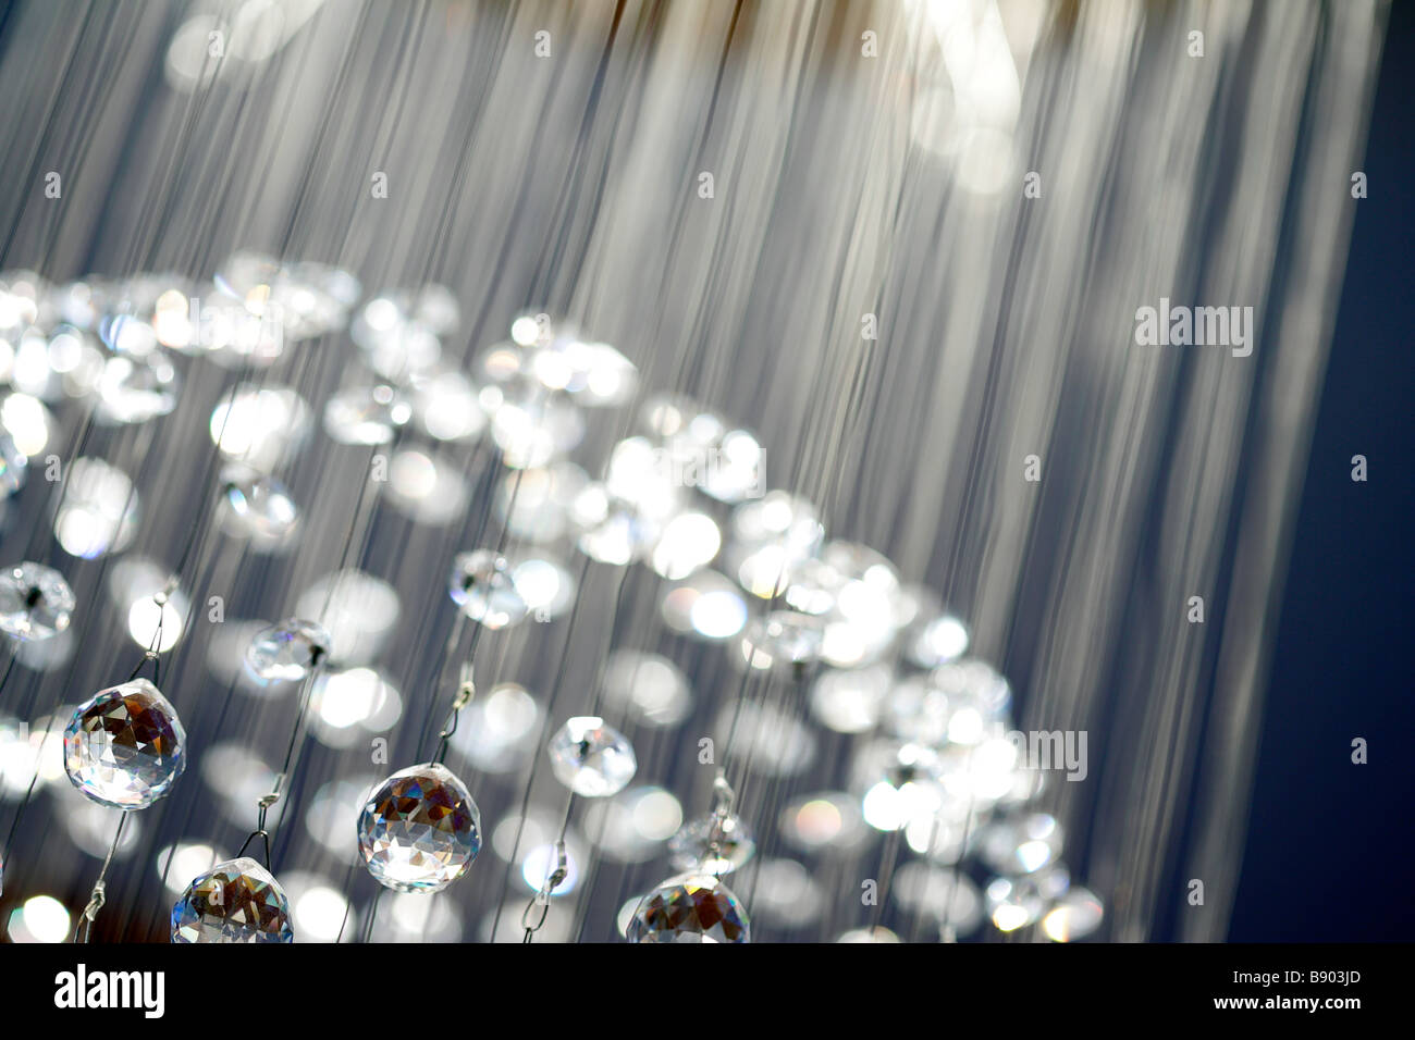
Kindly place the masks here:
[(64, 770), (100, 805), (143, 809), (181, 775), (185, 743), (177, 709), (147, 679), (132, 679), (74, 712), (64, 730)]

